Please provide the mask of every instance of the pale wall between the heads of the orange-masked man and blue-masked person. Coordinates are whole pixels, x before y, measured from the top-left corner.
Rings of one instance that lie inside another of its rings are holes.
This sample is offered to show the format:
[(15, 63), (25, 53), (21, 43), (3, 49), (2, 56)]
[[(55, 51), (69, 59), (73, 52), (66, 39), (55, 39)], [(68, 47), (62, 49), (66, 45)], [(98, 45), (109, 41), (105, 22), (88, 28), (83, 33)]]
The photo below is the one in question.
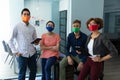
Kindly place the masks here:
[(46, 22), (52, 19), (51, 4), (52, 2), (50, 1), (40, 0), (25, 1), (25, 7), (29, 8), (31, 11), (31, 23), (34, 25), (35, 20), (40, 20), (40, 26), (35, 26), (38, 37), (41, 37), (41, 35), (46, 32)]

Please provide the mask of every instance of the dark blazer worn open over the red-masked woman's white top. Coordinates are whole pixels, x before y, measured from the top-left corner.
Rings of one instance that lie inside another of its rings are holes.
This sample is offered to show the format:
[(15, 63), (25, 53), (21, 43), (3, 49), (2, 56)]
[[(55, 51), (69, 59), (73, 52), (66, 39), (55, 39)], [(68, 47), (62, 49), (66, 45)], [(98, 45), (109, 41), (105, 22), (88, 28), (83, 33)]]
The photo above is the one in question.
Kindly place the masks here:
[[(90, 39), (91, 39), (91, 35), (88, 36), (86, 45), (88, 45)], [(118, 54), (118, 51), (115, 48), (115, 46), (112, 44), (112, 42), (108, 39), (108, 37), (101, 33), (94, 40), (93, 54), (94, 55), (99, 54), (101, 57), (103, 57), (107, 54), (110, 54), (111, 56), (113, 56), (113, 55)]]

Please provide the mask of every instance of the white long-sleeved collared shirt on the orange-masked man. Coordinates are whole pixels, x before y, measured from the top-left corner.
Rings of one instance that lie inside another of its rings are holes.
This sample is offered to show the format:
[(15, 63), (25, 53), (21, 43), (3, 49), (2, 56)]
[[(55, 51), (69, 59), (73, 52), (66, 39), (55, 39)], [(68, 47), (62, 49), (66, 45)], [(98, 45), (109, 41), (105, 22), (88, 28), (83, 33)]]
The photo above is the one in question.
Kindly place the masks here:
[[(31, 42), (36, 39), (36, 30), (31, 25), (26, 25), (24, 22), (18, 23), (12, 33), (9, 45), (13, 53), (21, 53), (23, 57), (30, 57), (35, 54), (35, 48)], [(17, 47), (15, 45), (17, 42)]]

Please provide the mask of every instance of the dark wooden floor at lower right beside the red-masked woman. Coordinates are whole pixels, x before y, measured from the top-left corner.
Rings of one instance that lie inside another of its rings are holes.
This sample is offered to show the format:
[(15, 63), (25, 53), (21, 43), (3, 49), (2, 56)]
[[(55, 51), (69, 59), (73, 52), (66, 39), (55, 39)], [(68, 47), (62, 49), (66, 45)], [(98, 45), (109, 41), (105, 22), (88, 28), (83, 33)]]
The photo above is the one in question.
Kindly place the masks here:
[(120, 80), (120, 55), (105, 62), (104, 80)]

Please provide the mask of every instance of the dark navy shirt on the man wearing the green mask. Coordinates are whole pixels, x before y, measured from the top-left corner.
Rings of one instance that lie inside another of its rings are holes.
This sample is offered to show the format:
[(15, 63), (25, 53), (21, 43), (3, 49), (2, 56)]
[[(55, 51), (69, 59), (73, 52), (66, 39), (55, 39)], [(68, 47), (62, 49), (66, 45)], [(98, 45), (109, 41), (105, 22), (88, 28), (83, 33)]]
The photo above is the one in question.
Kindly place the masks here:
[[(84, 55), (83, 49), (85, 49), (85, 44), (87, 41), (87, 35), (80, 31), (80, 37), (76, 39), (74, 32), (68, 35), (67, 45), (66, 45), (66, 56), (79, 56), (82, 62), (85, 62), (86, 56)], [(81, 54), (76, 53), (76, 49), (80, 49)]]

